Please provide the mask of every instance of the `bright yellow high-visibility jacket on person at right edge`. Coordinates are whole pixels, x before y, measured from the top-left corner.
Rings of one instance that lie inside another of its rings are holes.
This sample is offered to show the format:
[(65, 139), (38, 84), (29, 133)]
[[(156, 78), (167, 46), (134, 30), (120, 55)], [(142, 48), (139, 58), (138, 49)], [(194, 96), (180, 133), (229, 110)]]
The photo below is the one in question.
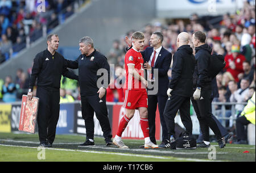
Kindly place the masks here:
[(255, 125), (255, 92), (247, 105), (243, 108), (241, 115), (244, 115), (248, 121)]

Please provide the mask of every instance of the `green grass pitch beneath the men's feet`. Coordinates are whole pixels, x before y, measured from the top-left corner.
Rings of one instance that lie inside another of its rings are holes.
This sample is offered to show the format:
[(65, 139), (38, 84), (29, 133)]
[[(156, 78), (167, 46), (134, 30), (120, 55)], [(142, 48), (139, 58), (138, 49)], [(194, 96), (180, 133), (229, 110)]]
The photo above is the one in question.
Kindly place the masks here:
[(255, 162), (253, 145), (227, 144), (220, 149), (212, 143), (210, 149), (141, 149), (143, 140), (123, 140), (129, 149), (119, 149), (115, 145), (105, 146), (102, 137), (94, 140), (96, 146), (79, 147), (85, 136), (57, 135), (53, 146), (43, 149), (39, 147), (38, 134), (0, 133), (0, 162)]

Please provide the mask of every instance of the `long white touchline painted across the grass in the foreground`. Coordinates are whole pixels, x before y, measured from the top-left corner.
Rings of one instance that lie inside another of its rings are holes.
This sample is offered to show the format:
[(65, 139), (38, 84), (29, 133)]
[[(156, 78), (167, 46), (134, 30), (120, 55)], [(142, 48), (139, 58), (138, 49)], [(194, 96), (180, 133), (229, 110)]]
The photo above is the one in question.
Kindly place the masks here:
[[(0, 146), (24, 147), (24, 148), (38, 149), (38, 147), (35, 147), (35, 146), (18, 146), (18, 145), (3, 145), (3, 144), (0, 144)], [(110, 152), (105, 152), (105, 151), (85, 151), (85, 150), (72, 150), (72, 149), (56, 149), (56, 148), (47, 148), (47, 147), (44, 147), (44, 149), (60, 150), (60, 151), (76, 151), (76, 152), (82, 152), (82, 153), (113, 154), (113, 155), (124, 155), (124, 156), (129, 156), (129, 157), (144, 157), (144, 158), (155, 158), (155, 159), (171, 159), (171, 158), (173, 158), (173, 159), (180, 160), (180, 161), (212, 162), (207, 159), (160, 157), (160, 156), (142, 155), (142, 154), (127, 154), (127, 153), (114, 153), (114, 152), (110, 153)]]

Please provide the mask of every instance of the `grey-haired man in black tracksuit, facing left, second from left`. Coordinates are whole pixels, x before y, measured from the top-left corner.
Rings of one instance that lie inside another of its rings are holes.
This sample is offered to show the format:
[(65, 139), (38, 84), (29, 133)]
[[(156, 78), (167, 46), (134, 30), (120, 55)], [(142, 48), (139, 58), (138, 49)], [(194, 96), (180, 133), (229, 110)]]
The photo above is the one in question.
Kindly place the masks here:
[[(79, 42), (81, 54), (76, 61), (67, 60), (68, 67), (79, 69), (82, 118), (85, 120), (86, 141), (80, 146), (94, 146), (94, 111), (100, 121), (106, 145), (113, 144), (106, 107), (106, 88), (110, 83), (110, 67), (106, 57), (93, 47), (90, 37)], [(102, 75), (103, 73), (103, 75)]]

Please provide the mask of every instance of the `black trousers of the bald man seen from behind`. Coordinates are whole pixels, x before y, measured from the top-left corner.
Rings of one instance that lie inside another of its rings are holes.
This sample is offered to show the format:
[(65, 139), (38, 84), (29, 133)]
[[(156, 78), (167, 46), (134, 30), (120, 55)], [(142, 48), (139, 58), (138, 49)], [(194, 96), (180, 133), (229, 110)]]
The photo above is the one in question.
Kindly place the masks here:
[[(180, 119), (185, 126), (186, 131), (192, 134), (192, 120), (190, 116), (190, 98), (172, 95), (170, 100), (166, 102), (166, 108), (164, 109), (164, 119), (168, 128), (168, 140), (171, 136), (175, 137), (175, 116), (177, 111), (180, 111)], [(176, 137), (175, 137), (176, 138)]]

